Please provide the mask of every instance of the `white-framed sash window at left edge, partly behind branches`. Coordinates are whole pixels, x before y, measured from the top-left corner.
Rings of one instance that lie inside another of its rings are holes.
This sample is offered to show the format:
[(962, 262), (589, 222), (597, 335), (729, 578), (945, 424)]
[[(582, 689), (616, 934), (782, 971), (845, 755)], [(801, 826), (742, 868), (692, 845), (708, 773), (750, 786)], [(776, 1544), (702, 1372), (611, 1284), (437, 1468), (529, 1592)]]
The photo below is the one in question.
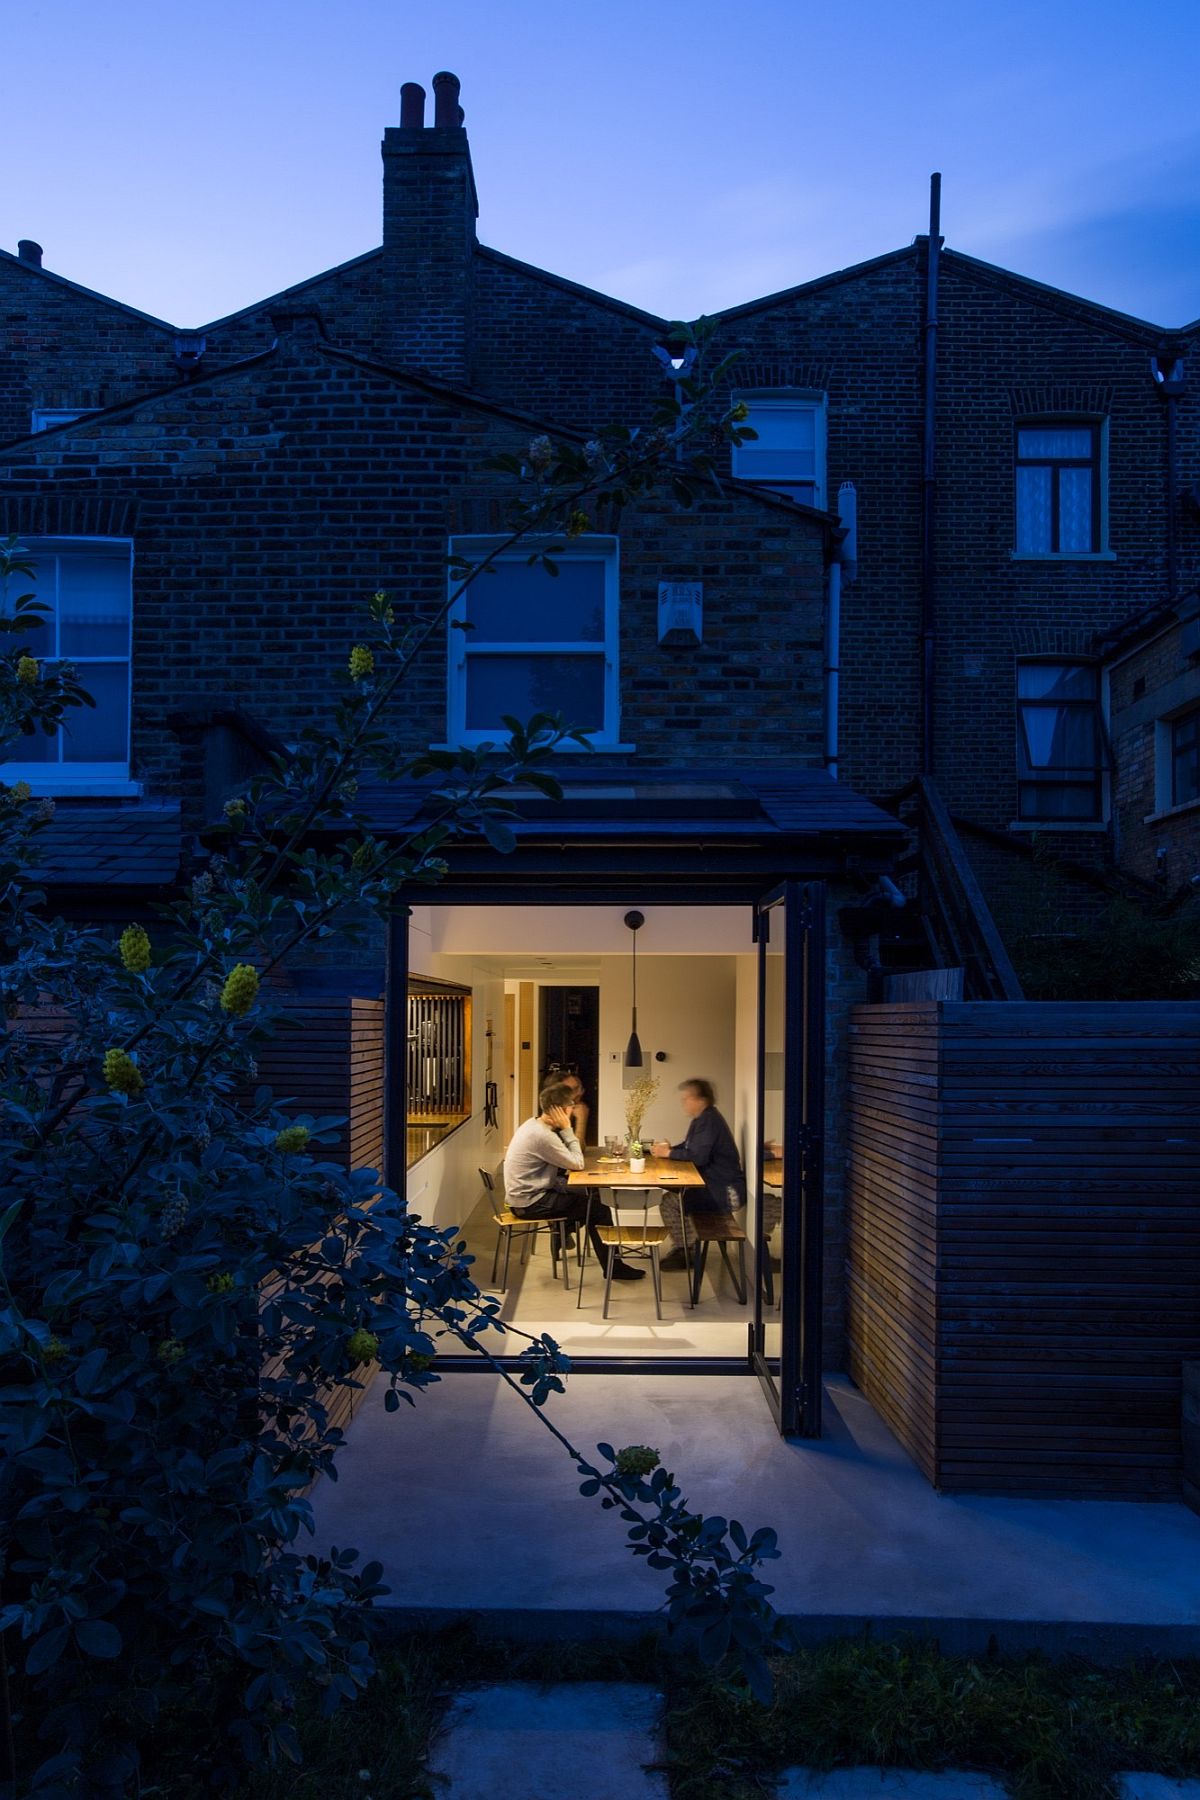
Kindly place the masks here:
[(70, 707), (63, 725), (18, 738), (5, 781), (43, 794), (113, 792), (130, 779), (130, 639), (133, 547), (124, 538), (27, 538), (34, 580), (13, 576), (50, 610), (31, 634), (43, 662), (74, 662), (95, 706)]

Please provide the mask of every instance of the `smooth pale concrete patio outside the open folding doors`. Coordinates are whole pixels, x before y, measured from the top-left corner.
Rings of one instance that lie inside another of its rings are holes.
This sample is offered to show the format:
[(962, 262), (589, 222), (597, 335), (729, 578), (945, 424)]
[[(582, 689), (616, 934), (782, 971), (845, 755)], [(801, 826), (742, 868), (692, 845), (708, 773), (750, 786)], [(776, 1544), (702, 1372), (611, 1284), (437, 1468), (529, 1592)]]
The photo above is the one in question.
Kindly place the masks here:
[[(507, 1633), (646, 1625), (662, 1577), (489, 1373), (452, 1373), (349, 1427), (315, 1492), (318, 1541), (380, 1557), (390, 1606)], [(1043, 1645), (1092, 1656), (1200, 1652), (1200, 1517), (1182, 1505), (939, 1496), (844, 1377), (826, 1436), (777, 1436), (741, 1375), (574, 1375), (552, 1417), (590, 1453), (651, 1444), (693, 1505), (772, 1525), (775, 1604), (802, 1633), (923, 1629), (945, 1649)], [(421, 1553), (414, 1555), (414, 1546)]]

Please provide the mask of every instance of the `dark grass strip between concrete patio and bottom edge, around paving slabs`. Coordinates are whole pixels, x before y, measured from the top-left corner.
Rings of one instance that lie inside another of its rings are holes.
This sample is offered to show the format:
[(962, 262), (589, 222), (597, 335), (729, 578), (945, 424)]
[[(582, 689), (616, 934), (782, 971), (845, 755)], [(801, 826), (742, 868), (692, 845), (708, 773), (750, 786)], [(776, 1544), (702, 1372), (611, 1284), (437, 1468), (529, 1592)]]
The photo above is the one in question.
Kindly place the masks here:
[[(790, 1764), (986, 1769), (1013, 1800), (1112, 1800), (1123, 1769), (1200, 1773), (1200, 1661), (1103, 1669), (837, 1640), (779, 1658), (775, 1697), (757, 1706), (658, 1638), (522, 1645), (462, 1625), (389, 1640), (356, 1705), (297, 1717), (304, 1766), (255, 1769), (228, 1800), (444, 1800), (430, 1739), (453, 1694), (482, 1681), (662, 1688), (673, 1800), (763, 1800)], [(176, 1717), (144, 1800), (212, 1800), (219, 1735), (219, 1721)]]

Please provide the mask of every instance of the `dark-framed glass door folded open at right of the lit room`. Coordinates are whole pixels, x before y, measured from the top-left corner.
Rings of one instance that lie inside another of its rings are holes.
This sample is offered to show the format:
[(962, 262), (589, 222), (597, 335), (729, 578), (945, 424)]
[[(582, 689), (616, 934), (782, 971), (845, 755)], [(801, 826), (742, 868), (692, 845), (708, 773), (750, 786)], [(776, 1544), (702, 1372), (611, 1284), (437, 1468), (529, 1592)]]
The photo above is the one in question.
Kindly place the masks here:
[(779, 1429), (820, 1436), (824, 887), (784, 882), (754, 909), (757, 1127), (750, 1364)]

